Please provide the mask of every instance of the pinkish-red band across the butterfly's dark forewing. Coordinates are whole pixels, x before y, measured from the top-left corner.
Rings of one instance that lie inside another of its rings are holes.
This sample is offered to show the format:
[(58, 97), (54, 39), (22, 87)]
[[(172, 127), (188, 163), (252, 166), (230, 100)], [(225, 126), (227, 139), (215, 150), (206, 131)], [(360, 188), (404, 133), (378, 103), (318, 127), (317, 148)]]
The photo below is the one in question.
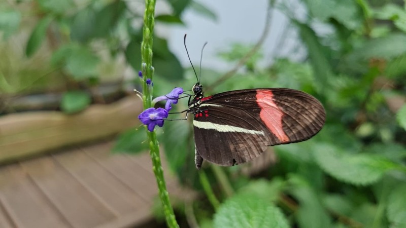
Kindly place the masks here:
[(288, 142), (290, 139), (282, 127), (284, 112), (275, 104), (273, 97), (271, 90), (257, 90), (256, 101), (261, 108), (259, 117), (281, 142)]

